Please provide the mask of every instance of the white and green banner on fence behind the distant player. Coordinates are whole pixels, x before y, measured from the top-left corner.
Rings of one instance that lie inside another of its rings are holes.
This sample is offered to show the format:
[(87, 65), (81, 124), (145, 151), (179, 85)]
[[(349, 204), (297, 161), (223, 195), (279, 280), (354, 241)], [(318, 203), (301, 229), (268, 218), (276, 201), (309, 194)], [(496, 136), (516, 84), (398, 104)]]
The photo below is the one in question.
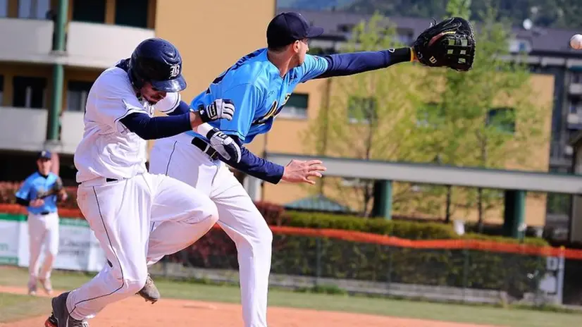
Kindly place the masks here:
[[(106, 259), (87, 221), (60, 218), (58, 254), (54, 269), (100, 271)], [(28, 226), (20, 216), (0, 215), (0, 264), (27, 267), (30, 257)], [(44, 249), (40, 259), (44, 260)]]

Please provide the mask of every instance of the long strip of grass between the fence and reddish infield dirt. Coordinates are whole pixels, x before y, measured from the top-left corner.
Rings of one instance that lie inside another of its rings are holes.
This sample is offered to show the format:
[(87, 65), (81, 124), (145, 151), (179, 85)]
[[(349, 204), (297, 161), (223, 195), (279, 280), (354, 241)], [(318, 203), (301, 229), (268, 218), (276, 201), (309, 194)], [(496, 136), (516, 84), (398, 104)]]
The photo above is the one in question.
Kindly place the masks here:
[[(55, 272), (52, 278), (56, 289), (75, 288), (90, 276), (80, 273)], [(24, 269), (0, 267), (0, 285), (26, 285)], [(212, 302), (240, 302), (235, 286), (204, 285), (156, 279), (162, 297)], [(25, 297), (26, 298), (26, 297)], [(4, 304), (0, 304), (2, 312)], [(464, 304), (442, 304), (409, 300), (388, 300), (347, 295), (323, 295), (285, 290), (269, 292), (269, 306), (295, 307), (328, 311), (349, 311), (364, 314), (400, 316), (416, 319), (483, 323), (510, 327), (564, 327), (579, 326), (582, 314), (566, 314), (531, 309), (502, 309)], [(48, 308), (48, 307), (47, 307)]]

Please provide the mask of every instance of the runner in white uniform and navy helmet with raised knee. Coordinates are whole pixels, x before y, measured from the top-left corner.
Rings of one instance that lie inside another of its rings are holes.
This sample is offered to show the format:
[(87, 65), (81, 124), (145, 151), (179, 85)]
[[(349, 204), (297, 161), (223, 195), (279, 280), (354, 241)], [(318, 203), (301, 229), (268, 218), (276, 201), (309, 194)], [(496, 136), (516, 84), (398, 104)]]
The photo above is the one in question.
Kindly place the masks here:
[[(185, 87), (178, 49), (159, 38), (144, 40), (131, 58), (95, 80), (74, 160), (77, 202), (107, 261), (88, 283), (52, 299), (46, 327), (88, 327), (87, 319), (107, 304), (144, 287), (147, 251), (177, 252), (185, 247), (182, 239), (197, 239), (216, 223), (216, 205), (204, 193), (145, 167), (145, 140), (188, 130), (201, 132), (222, 156), (240, 161), (233, 139), (206, 123), (232, 119), (232, 101), (216, 99), (192, 110), (177, 93)], [(168, 116), (154, 117), (154, 109)], [(159, 225), (150, 232), (153, 222)]]

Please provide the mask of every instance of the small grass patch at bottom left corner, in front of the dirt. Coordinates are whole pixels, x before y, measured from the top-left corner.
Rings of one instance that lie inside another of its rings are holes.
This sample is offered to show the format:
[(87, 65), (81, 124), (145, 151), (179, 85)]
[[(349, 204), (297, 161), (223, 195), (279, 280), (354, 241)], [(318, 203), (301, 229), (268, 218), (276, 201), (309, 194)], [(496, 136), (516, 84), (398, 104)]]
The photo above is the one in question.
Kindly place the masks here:
[(0, 323), (46, 314), (49, 308), (48, 297), (0, 293)]

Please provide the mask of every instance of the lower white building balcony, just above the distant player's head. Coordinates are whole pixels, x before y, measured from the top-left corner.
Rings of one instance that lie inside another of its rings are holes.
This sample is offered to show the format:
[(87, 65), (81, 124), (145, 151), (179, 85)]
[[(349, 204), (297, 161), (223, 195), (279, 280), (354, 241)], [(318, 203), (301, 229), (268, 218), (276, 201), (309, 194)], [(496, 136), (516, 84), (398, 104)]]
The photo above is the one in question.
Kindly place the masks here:
[[(47, 109), (0, 107), (0, 149), (37, 152), (47, 140)], [(61, 142), (55, 150), (73, 154), (83, 136), (83, 113), (65, 111), (61, 116)]]

